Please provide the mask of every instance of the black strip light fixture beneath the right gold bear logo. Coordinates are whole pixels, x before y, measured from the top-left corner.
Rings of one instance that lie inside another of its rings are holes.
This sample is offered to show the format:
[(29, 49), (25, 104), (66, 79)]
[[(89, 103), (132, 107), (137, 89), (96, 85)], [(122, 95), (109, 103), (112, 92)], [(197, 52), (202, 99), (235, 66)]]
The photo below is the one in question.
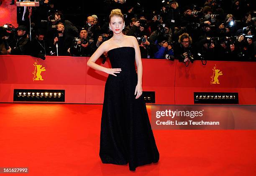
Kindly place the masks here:
[(238, 93), (194, 92), (195, 104), (238, 104)]

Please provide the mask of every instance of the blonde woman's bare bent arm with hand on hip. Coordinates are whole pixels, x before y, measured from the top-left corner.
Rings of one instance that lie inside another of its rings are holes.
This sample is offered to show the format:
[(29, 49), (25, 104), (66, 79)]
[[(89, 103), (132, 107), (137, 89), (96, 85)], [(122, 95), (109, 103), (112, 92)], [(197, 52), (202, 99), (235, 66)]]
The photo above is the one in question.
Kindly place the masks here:
[(98, 58), (100, 58), (100, 56), (102, 55), (102, 53), (105, 52), (105, 50), (107, 49), (107, 43), (104, 42), (100, 45), (100, 47), (95, 51), (95, 53), (93, 53), (93, 55), (90, 57), (90, 59), (88, 60), (87, 62), (87, 65), (95, 70), (99, 70), (99, 71), (102, 71), (102, 72), (105, 72), (105, 73), (108, 73), (110, 75), (114, 75), (114, 76), (117, 76), (115, 75), (114, 73), (120, 73), (121, 69), (120, 68), (105, 68), (105, 67), (102, 67), (98, 64), (96, 64), (96, 60)]

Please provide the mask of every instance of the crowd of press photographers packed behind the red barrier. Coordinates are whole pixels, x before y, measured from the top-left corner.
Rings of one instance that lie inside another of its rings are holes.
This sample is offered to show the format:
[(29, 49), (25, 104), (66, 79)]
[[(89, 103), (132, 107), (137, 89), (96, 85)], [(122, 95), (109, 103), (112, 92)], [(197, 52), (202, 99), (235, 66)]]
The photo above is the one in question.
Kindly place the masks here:
[[(254, 0), (179, 2), (154, 1), (161, 8), (152, 13), (145, 13), (139, 2), (123, 11), (123, 33), (137, 38), (141, 58), (177, 59), (185, 65), (194, 60), (202, 60), (202, 64), (207, 60), (256, 61)], [(32, 8), (31, 23), (24, 15), (28, 8), (17, 7), (21, 11), (18, 28), (11, 24), (0, 27), (0, 55), (31, 55), (43, 60), (46, 55), (87, 57), (113, 35), (109, 22), (100, 19), (97, 10), (75, 26), (49, 0), (39, 3)], [(127, 2), (104, 3), (116, 4), (116, 8)], [(108, 58), (108, 53), (102, 58)]]

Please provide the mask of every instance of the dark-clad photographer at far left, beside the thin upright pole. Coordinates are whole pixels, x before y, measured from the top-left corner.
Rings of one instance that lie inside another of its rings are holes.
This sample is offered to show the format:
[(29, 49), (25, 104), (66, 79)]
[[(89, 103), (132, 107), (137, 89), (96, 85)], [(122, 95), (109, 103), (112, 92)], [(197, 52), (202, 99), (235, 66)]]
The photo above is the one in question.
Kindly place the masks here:
[(29, 55), (29, 46), (30, 40), (27, 38), (27, 28), (26, 26), (20, 25), (17, 28), (17, 42), (14, 48), (10, 48), (7, 50), (11, 55)]

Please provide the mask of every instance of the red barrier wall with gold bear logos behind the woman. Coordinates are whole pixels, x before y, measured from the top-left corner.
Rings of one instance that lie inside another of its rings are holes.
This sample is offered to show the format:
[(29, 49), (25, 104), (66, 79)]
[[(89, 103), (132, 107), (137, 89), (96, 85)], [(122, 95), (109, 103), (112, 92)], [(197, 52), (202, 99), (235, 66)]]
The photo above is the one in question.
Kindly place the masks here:
[[(87, 67), (88, 59), (1, 55), (0, 102), (13, 102), (13, 89), (64, 89), (65, 103), (103, 103), (108, 74)], [(239, 104), (256, 104), (256, 63), (195, 61), (188, 67), (177, 60), (143, 59), (142, 63), (143, 91), (155, 91), (156, 104), (194, 104), (194, 92), (238, 92)], [(111, 65), (107, 60), (102, 66)], [(43, 69), (44, 80), (35, 80), (40, 77), (34, 74), (37, 67)]]

